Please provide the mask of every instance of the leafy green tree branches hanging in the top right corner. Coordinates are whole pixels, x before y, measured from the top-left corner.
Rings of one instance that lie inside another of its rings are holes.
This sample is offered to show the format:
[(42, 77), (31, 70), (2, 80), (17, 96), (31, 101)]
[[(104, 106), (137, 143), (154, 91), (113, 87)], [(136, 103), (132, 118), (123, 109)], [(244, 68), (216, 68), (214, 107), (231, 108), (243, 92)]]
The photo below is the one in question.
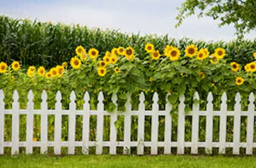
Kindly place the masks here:
[(238, 38), (256, 30), (256, 0), (186, 0), (177, 9), (176, 27), (185, 18), (199, 12), (199, 18), (210, 16), (213, 20), (220, 20), (219, 26), (234, 24)]

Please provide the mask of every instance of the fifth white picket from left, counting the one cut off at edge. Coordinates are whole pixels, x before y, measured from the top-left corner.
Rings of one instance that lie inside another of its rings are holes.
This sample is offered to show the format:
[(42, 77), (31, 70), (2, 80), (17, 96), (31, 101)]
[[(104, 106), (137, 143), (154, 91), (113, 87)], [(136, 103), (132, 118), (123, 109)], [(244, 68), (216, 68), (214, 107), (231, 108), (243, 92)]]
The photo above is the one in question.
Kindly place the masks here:
[(55, 102), (55, 154), (61, 154), (61, 124), (62, 124), (62, 115), (61, 115), (61, 91), (57, 92), (56, 102)]

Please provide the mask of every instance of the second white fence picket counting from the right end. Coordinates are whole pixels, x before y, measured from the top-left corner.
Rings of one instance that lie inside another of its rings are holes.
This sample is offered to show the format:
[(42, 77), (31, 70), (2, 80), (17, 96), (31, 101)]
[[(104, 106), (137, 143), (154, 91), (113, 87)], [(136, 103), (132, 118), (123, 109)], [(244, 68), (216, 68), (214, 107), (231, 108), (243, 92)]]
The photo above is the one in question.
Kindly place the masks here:
[(239, 154), (239, 143), (240, 143), (240, 125), (241, 125), (241, 96), (239, 93), (236, 94), (236, 104), (234, 111), (234, 135), (233, 135), (233, 154)]

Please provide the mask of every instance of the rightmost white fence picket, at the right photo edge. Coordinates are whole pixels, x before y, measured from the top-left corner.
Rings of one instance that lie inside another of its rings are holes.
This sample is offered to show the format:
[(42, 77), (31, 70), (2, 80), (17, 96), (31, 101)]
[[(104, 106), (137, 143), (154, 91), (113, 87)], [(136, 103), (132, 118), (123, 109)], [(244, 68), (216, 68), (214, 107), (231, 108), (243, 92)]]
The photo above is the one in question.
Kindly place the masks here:
[(253, 154), (253, 126), (254, 126), (254, 100), (253, 92), (249, 96), (247, 111), (247, 149), (246, 154)]

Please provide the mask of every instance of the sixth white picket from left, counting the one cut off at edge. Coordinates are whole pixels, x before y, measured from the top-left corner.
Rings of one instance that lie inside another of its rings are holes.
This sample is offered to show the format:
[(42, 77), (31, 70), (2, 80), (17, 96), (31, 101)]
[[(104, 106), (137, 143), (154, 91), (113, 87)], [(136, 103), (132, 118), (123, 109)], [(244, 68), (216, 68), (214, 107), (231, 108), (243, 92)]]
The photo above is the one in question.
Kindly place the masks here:
[(70, 95), (69, 116), (68, 116), (68, 154), (75, 154), (75, 132), (76, 132), (76, 94)]

